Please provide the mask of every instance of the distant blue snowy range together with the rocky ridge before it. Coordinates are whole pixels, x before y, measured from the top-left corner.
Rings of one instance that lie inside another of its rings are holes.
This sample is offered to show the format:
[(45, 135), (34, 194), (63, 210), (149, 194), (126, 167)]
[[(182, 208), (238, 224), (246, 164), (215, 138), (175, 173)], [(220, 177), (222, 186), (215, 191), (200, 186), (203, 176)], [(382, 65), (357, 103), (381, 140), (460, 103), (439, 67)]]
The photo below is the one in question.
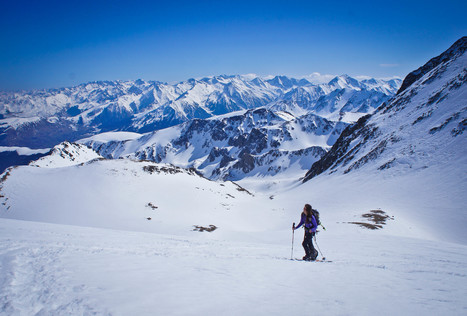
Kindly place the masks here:
[[(199, 168), (212, 179), (302, 173), (348, 122), (373, 112), (400, 83), (342, 75), (314, 84), (248, 75), (175, 85), (136, 80), (2, 93), (0, 144), (42, 148), (102, 132), (147, 132), (131, 145), (117, 146), (111, 139), (108, 146), (117, 150), (112, 152), (91, 142), (106, 157), (177, 163)], [(126, 149), (117, 149), (122, 146)], [(31, 158), (17, 156), (14, 149), (0, 153), (9, 162), (5, 167)]]

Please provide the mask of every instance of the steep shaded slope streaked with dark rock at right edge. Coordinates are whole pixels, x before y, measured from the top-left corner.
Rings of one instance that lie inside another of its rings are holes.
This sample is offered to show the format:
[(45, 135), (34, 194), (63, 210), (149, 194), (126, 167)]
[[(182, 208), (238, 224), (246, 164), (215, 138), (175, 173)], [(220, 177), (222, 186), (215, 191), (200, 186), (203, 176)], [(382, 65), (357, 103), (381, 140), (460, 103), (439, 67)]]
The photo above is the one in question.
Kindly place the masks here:
[(349, 126), (334, 147), (307, 173), (430, 168), (455, 164), (467, 147), (467, 37), (404, 80), (388, 104)]

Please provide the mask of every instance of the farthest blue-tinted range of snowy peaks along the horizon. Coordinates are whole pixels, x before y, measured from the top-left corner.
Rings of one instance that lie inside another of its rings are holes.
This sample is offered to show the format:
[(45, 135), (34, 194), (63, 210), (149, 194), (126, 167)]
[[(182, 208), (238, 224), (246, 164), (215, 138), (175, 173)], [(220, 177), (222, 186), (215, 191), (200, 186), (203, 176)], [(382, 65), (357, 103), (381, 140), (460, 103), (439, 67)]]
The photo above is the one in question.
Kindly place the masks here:
[(313, 111), (355, 120), (395, 94), (399, 79), (357, 80), (343, 75), (326, 84), (276, 76), (215, 76), (177, 84), (105, 81), (71, 88), (0, 92), (0, 145), (53, 147), (108, 131), (150, 132), (196, 118), (269, 106), (294, 115)]

